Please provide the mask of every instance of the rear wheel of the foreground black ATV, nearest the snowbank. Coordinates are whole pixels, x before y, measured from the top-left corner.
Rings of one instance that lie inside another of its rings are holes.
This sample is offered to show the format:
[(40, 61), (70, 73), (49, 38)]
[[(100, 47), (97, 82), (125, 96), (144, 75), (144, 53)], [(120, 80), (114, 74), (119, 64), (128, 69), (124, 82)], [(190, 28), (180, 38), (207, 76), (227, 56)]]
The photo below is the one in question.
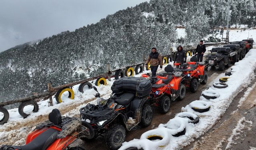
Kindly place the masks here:
[(142, 127), (149, 126), (153, 118), (152, 116), (153, 116), (152, 107), (147, 104), (144, 105), (141, 113), (140, 126)]

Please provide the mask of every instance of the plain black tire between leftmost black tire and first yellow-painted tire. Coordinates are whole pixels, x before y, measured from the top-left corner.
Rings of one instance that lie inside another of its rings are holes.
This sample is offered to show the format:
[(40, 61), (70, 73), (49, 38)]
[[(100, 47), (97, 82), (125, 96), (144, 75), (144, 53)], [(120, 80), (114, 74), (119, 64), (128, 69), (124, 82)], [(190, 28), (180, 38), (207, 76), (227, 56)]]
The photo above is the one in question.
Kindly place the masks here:
[(32, 105), (34, 107), (32, 112), (38, 112), (39, 108), (37, 102), (35, 102), (34, 100), (28, 100), (26, 102), (20, 103), (20, 106), (18, 108), (20, 116), (26, 118), (28, 117), (28, 115), (30, 115), (31, 112), (24, 112), (24, 107), (28, 105)]

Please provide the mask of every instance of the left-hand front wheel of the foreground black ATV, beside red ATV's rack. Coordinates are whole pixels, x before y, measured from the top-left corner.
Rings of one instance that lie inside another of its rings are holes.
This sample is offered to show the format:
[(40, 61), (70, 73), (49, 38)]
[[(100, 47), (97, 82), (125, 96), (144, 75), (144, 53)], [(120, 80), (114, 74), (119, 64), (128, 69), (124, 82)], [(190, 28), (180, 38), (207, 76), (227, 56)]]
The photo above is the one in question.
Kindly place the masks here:
[(84, 132), (86, 132), (86, 134), (84, 134), (84, 132), (80, 133), (79, 138), (83, 141), (87, 141), (94, 138), (95, 132), (92, 126), (86, 121), (82, 121), (82, 126), (85, 126), (87, 129), (85, 130), (84, 127), (80, 127), (78, 128), (78, 131), (81, 132), (82, 130), (85, 130)]

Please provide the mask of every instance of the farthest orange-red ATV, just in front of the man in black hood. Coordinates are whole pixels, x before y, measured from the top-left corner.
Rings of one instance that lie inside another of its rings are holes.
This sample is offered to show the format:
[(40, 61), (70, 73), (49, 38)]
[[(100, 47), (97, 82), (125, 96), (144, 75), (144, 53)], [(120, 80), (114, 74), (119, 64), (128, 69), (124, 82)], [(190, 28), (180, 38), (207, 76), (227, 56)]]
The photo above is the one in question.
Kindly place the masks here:
[(176, 71), (183, 72), (184, 80), (183, 83), (185, 86), (189, 87), (191, 92), (196, 92), (198, 88), (198, 82), (200, 84), (206, 84), (208, 76), (205, 72), (205, 65), (203, 62), (197, 62), (198, 59), (196, 56), (193, 56), (190, 59), (191, 62), (187, 63), (175, 63), (175, 66), (179, 66)]

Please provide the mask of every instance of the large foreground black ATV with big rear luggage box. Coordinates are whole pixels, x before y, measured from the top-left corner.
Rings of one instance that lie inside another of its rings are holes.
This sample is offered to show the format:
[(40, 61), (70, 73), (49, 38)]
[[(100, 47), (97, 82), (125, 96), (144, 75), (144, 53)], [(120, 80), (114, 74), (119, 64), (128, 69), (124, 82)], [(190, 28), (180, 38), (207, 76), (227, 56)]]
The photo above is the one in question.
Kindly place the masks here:
[[(104, 136), (108, 148), (120, 148), (126, 130), (130, 131), (138, 124), (146, 127), (151, 123), (153, 110), (147, 104), (151, 86), (150, 80), (146, 78), (124, 77), (114, 81), (112, 94), (107, 100), (97, 93), (97, 105), (87, 104), (80, 109), (82, 125), (88, 128), (88, 132), (80, 134), (80, 139)], [(96, 87), (94, 90), (97, 91)]]

